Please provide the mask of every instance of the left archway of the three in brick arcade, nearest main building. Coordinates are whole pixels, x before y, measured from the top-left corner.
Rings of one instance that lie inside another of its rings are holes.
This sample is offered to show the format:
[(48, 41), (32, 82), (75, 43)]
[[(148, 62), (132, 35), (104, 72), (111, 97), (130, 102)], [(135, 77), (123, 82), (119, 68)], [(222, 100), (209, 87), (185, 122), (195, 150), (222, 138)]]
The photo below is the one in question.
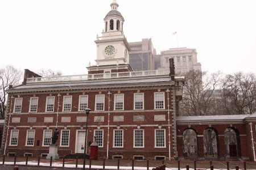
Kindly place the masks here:
[(183, 131), (183, 156), (197, 157), (197, 133), (188, 128)]

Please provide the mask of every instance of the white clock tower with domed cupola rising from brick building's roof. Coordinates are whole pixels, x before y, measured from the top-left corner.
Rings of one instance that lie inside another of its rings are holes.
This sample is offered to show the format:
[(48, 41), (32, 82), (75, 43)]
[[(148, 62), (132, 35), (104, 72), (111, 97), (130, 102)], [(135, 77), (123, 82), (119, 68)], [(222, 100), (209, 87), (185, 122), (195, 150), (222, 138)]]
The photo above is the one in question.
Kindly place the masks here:
[(130, 46), (123, 34), (123, 16), (117, 10), (118, 3), (113, 0), (111, 10), (104, 18), (102, 36), (97, 35), (96, 66), (87, 67), (89, 74), (132, 71), (129, 65)]

